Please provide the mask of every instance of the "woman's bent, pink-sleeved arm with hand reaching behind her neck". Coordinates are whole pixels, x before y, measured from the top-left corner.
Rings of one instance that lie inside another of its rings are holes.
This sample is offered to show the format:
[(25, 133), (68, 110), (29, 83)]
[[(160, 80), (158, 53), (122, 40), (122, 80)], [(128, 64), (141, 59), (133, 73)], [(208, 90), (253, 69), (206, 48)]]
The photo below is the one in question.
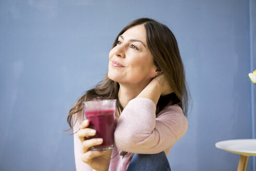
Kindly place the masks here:
[(120, 150), (142, 154), (159, 153), (185, 135), (188, 121), (178, 105), (168, 106), (159, 117), (155, 116), (160, 95), (172, 92), (161, 74), (127, 104), (115, 130), (115, 144)]

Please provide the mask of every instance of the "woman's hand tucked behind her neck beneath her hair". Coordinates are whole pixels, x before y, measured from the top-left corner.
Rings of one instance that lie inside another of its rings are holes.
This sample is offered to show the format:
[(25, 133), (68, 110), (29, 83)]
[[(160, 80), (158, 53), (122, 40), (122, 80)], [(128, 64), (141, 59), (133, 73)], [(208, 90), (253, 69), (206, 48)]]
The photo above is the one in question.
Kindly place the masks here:
[(173, 93), (173, 89), (170, 87), (170, 84), (164, 74), (160, 74), (159, 76), (156, 76), (155, 78), (152, 79), (152, 81), (153, 82), (156, 81), (157, 83), (160, 84), (161, 95), (167, 95), (167, 94)]

